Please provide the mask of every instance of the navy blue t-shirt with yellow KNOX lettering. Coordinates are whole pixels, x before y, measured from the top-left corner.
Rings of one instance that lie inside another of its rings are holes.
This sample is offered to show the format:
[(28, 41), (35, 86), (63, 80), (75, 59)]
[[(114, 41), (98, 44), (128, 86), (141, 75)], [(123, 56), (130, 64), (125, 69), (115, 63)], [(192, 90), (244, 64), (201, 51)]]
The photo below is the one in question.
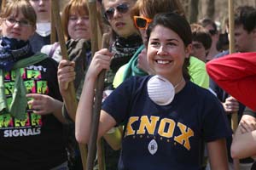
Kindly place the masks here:
[(125, 122), (119, 169), (200, 169), (201, 144), (231, 135), (218, 99), (193, 82), (160, 106), (148, 97), (148, 77), (131, 77), (102, 110)]

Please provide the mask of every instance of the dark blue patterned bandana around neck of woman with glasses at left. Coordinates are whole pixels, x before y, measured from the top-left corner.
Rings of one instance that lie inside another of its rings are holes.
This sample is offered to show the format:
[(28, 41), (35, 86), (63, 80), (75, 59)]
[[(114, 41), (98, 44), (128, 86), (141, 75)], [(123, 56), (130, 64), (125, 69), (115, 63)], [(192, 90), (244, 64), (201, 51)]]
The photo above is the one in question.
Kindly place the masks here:
[(32, 56), (32, 47), (28, 41), (1, 37), (0, 39), (0, 69), (10, 71), (15, 62)]

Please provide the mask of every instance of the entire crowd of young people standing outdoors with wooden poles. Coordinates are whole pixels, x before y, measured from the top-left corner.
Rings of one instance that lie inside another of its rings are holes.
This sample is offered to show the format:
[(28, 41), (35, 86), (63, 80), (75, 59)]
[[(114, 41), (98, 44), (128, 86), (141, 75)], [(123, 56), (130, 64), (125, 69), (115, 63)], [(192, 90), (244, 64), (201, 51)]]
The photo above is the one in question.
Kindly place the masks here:
[[(82, 170), (102, 70), (106, 169), (256, 169), (256, 8), (236, 8), (229, 54), (228, 29), (222, 41), (214, 20), (189, 23), (179, 0), (96, 3), (108, 48), (91, 54), (88, 2), (70, 0), (68, 59), (50, 43), (50, 0), (2, 5), (1, 169)], [(71, 82), (79, 105), (67, 105)]]

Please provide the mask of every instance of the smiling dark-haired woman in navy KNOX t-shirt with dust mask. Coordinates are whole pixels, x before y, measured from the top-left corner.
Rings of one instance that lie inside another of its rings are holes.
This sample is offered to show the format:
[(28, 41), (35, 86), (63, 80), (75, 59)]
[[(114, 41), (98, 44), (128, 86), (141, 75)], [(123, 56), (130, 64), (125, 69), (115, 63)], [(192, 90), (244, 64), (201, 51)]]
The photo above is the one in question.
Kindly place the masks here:
[[(224, 110), (183, 69), (192, 42), (188, 21), (175, 13), (157, 14), (147, 36), (148, 63), (155, 76), (131, 77), (105, 99), (98, 138), (125, 123), (119, 169), (200, 169), (206, 141), (212, 170), (227, 170), (225, 137), (231, 132)], [(80, 143), (88, 143), (90, 136), (96, 77), (109, 69), (112, 56), (106, 48), (96, 52), (87, 71), (76, 116)]]

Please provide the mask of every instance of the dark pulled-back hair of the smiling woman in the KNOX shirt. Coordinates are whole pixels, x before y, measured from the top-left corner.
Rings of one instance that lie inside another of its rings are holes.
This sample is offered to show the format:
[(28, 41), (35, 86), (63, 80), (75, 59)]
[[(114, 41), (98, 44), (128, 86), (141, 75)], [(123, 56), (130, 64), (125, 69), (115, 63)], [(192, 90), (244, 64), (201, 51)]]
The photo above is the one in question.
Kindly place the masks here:
[[(148, 26), (147, 37), (149, 40), (151, 31), (155, 26), (164, 26), (172, 31), (175, 31), (179, 37), (183, 40), (184, 46), (187, 47), (192, 42), (192, 32), (189, 26), (189, 22), (185, 17), (176, 13), (160, 13), (154, 16), (153, 22)], [(183, 64), (183, 77), (186, 80), (190, 79), (189, 76), (189, 59), (184, 60)]]

